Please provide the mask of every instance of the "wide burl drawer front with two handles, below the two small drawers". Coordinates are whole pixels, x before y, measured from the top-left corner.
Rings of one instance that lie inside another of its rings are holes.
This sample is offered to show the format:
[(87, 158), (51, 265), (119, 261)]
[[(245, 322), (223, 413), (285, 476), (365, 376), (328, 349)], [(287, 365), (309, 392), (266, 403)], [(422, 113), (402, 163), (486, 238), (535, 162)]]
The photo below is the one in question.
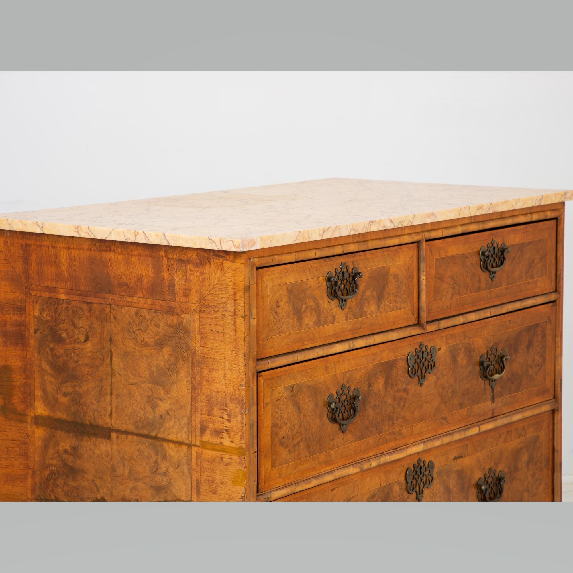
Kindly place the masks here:
[[(262, 372), (259, 489), (550, 399), (554, 373), (555, 303)], [(343, 385), (346, 427), (328, 407)]]

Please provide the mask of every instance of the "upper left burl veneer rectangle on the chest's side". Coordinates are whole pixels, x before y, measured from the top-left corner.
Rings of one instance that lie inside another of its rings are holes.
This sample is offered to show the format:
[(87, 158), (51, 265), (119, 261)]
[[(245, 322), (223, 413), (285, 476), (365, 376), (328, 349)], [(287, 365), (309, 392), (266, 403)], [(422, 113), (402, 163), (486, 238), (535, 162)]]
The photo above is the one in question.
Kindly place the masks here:
[(110, 424), (109, 305), (34, 298), (37, 415)]

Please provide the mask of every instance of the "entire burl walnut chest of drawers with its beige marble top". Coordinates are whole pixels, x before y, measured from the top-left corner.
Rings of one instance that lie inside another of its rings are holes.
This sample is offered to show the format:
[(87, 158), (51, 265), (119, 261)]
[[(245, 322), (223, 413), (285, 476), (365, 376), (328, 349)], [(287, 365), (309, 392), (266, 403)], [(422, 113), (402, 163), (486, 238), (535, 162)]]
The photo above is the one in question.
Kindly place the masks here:
[(0, 499), (559, 500), (571, 191), (0, 215)]

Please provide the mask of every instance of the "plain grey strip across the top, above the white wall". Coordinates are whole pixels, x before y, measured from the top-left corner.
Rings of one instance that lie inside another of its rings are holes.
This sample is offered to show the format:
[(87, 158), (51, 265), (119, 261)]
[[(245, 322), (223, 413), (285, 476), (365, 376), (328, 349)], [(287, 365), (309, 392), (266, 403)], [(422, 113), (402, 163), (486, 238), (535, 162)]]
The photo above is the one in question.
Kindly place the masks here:
[(571, 70), (555, 0), (0, 2), (0, 70)]

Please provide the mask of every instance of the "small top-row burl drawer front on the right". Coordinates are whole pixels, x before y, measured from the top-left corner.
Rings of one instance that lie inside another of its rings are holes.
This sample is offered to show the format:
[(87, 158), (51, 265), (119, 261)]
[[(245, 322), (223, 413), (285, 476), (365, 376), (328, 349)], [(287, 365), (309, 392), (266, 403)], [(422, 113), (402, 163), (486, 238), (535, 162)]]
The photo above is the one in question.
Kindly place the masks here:
[(551, 220), (427, 241), (427, 320), (554, 291), (556, 229)]

